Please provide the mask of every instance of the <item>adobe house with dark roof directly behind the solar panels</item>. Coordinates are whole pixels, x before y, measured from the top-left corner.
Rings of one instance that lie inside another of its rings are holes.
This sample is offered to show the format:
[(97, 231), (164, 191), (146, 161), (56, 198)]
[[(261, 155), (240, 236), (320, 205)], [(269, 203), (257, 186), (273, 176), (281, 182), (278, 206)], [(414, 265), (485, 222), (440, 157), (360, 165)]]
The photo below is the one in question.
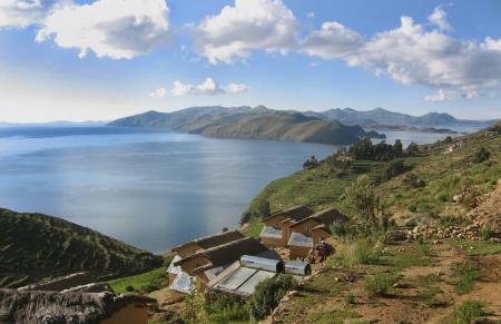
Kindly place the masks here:
[(200, 288), (243, 255), (261, 255), (279, 258), (275, 252), (252, 237), (245, 237), (191, 254), (177, 263), (181, 271), (195, 276)]

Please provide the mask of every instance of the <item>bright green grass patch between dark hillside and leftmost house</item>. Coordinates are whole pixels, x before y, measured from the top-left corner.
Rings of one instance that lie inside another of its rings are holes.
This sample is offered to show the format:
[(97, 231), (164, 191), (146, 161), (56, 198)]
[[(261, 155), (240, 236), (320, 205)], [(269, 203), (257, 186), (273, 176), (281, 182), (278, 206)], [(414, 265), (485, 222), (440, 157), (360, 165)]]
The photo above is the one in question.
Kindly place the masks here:
[(147, 294), (168, 286), (169, 277), (165, 267), (160, 267), (140, 275), (124, 277), (108, 282), (115, 293)]

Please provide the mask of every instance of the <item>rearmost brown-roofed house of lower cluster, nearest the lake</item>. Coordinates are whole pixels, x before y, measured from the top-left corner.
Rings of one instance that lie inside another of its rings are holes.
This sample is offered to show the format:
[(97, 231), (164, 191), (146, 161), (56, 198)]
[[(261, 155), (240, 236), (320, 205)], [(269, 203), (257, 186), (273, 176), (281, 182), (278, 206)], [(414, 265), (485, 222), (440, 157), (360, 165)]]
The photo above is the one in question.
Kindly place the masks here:
[(226, 244), (244, 238), (244, 234), (238, 230), (222, 232), (214, 235), (204, 236), (186, 244), (174, 247), (171, 251), (181, 258), (214, 246)]

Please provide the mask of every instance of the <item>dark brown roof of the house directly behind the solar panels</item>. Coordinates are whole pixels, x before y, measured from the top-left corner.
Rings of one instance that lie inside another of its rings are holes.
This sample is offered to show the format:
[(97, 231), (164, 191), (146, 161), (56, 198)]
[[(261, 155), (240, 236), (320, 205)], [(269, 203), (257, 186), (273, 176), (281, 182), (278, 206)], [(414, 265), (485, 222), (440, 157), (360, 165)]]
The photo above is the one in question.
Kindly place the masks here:
[(195, 253), (177, 262), (175, 265), (180, 265), (191, 258), (204, 256), (212, 263), (213, 266), (219, 266), (230, 264), (239, 259), (244, 254), (256, 255), (267, 251), (268, 248), (257, 239), (252, 237), (244, 237), (242, 239), (237, 239)]

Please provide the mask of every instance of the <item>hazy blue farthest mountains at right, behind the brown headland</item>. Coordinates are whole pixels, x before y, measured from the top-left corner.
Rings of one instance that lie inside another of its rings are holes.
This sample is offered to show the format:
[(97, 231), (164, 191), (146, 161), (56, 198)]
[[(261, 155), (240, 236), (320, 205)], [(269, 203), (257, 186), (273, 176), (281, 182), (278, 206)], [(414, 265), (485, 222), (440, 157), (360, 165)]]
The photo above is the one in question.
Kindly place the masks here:
[(325, 111), (306, 111), (306, 116), (318, 117), (327, 120), (337, 120), (344, 125), (399, 125), (399, 126), (459, 126), (485, 124), (492, 125), (498, 120), (463, 120), (444, 112), (429, 112), (423, 116), (411, 116), (393, 112), (383, 108), (361, 111), (352, 108), (335, 108)]

